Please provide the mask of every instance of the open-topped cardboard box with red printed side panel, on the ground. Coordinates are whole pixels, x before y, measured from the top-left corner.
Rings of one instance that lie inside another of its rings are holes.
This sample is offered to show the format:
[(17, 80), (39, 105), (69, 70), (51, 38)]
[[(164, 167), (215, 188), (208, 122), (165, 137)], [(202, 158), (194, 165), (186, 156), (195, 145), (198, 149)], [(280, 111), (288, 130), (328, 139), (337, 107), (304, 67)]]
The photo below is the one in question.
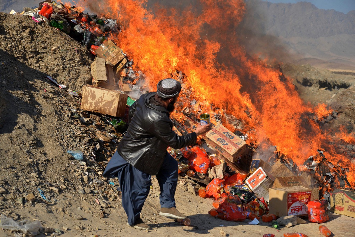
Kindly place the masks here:
[[(306, 216), (307, 204), (318, 199), (318, 188), (310, 188), (302, 177), (277, 177), (269, 189), (269, 213)], [(300, 185), (301, 184), (301, 185)]]

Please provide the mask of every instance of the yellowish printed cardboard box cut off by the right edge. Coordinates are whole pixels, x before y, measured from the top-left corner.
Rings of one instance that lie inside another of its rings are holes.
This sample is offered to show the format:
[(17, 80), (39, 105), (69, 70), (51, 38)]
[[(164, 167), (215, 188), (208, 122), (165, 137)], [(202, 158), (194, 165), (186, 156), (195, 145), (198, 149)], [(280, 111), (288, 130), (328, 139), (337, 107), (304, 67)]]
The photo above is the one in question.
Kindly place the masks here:
[(331, 211), (355, 217), (355, 192), (346, 189), (335, 189), (331, 192)]

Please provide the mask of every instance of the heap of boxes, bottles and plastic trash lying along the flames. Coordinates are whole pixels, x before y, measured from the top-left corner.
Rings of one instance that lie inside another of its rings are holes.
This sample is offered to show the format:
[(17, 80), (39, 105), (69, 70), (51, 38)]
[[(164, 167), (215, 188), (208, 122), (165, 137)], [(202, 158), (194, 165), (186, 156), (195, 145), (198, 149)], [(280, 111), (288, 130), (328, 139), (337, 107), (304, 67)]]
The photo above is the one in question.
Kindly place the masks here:
[[(110, 40), (111, 34), (120, 31), (117, 22), (51, 1), (20, 14), (64, 31), (97, 56), (91, 65), (92, 85), (84, 86), (82, 93), (76, 94), (82, 98), (81, 109), (109, 115), (111, 117), (105, 121), (124, 127), (126, 106), (149, 90), (149, 85), (144, 73), (133, 70), (133, 61)], [(208, 122), (215, 125), (198, 140), (198, 145), (168, 149), (178, 161), (180, 175), (188, 176), (201, 186), (196, 194), (214, 199), (214, 208), (209, 212), (212, 216), (229, 221), (250, 219), (253, 224), (260, 219), (278, 221), (273, 222), (276, 228), (300, 223), (297, 218), (285, 221), (285, 216), (308, 216), (311, 222), (323, 223), (329, 219), (329, 209), (341, 214), (350, 210), (345, 214), (355, 217), (349, 202), (344, 202), (345, 197), (355, 202), (351, 199), (354, 193), (344, 189), (352, 187), (346, 179), (346, 169), (324, 160), (321, 150), (317, 156), (311, 156), (302, 169), (278, 150), (274, 149), (271, 156), (259, 154), (255, 149), (257, 145), (253, 144), (255, 138), (250, 138), (253, 133), (241, 132), (245, 121), (226, 114), (223, 109), (216, 112), (212, 103), (191, 100), (193, 93), (191, 86), (185, 83), (184, 72), (175, 70), (170, 76), (183, 85), (172, 115), (175, 132), (181, 135), (192, 131), (200, 118), (209, 118)], [(246, 114), (252, 117), (249, 110)], [(117, 117), (122, 119), (115, 120)]]

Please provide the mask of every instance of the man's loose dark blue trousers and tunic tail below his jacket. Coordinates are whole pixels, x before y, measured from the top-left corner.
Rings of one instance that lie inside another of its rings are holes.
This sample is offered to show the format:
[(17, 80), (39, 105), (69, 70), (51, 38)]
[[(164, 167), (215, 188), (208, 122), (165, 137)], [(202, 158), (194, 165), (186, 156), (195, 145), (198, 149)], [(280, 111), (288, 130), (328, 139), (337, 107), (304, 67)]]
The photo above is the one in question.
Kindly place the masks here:
[[(130, 165), (117, 151), (107, 165), (104, 176), (118, 177), (122, 191), (122, 207), (127, 214), (128, 224), (133, 225), (140, 218), (152, 176)], [(174, 196), (178, 184), (178, 162), (168, 152), (156, 177), (160, 187), (160, 207), (176, 207)]]

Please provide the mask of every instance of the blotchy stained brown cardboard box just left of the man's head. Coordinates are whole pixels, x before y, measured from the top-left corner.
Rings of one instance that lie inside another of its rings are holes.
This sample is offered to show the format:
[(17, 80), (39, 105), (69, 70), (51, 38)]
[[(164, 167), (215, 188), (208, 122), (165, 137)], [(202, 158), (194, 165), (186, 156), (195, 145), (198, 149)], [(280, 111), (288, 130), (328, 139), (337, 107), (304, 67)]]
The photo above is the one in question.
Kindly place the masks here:
[(125, 115), (128, 95), (86, 85), (82, 88), (81, 109), (115, 117)]

